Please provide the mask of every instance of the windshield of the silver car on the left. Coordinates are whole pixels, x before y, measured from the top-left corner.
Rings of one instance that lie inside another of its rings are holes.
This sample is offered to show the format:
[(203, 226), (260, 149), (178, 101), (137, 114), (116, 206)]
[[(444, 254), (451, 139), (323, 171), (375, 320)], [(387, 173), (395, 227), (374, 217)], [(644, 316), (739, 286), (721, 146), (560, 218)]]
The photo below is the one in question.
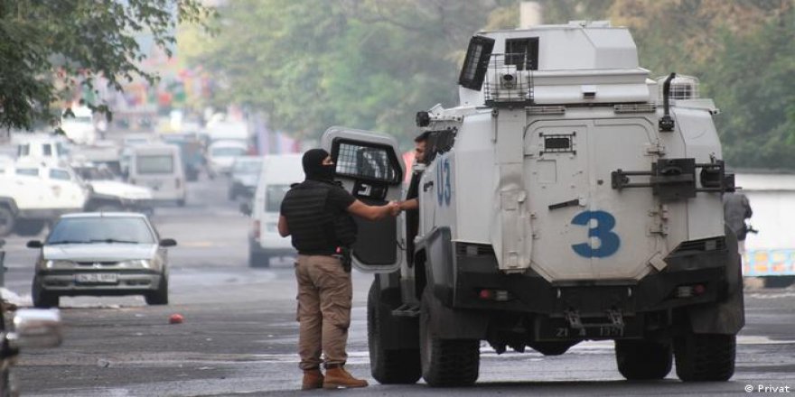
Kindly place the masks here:
[(49, 245), (154, 244), (154, 234), (141, 217), (66, 217), (47, 237)]

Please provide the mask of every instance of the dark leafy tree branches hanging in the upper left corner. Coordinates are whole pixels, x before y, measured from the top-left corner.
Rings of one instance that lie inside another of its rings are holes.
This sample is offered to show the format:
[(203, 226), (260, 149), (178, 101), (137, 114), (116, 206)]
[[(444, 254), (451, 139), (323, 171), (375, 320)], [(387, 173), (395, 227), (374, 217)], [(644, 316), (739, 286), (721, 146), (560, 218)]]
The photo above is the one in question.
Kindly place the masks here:
[(0, 127), (29, 129), (51, 120), (52, 104), (81, 87), (93, 91), (98, 78), (118, 90), (133, 78), (154, 81), (156, 74), (140, 66), (145, 54), (136, 34), (150, 34), (170, 54), (176, 24), (210, 14), (200, 0), (0, 3)]

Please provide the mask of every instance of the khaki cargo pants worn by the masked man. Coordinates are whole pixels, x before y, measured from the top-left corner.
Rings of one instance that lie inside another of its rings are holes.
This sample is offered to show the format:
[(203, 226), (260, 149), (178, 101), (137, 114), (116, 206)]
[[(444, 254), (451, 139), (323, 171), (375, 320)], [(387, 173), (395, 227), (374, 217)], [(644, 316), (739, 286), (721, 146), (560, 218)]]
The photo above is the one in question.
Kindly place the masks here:
[(298, 255), (295, 278), (299, 366), (317, 368), (323, 363), (321, 352), (326, 365), (345, 364), (351, 325), (351, 273), (345, 272), (340, 260), (333, 256)]

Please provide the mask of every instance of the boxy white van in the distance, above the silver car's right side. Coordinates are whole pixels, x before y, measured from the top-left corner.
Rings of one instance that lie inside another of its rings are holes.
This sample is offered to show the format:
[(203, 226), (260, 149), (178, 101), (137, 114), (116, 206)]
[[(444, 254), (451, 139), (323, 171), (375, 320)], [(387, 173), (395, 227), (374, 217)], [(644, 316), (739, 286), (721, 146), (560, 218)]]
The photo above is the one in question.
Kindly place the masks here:
[(133, 146), (128, 181), (152, 189), (155, 202), (185, 205), (185, 172), (182, 170), (180, 148), (173, 144)]

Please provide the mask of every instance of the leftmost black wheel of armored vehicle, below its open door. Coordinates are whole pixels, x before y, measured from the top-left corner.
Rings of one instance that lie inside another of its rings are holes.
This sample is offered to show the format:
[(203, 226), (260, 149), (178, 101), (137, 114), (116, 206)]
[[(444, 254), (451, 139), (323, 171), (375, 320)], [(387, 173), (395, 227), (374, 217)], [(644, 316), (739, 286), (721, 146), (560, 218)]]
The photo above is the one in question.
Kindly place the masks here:
[[(399, 302), (384, 301), (378, 280), (374, 280), (367, 297), (367, 340), (370, 372), (382, 384), (416, 383), (422, 376), (419, 346), (414, 349), (385, 349), (381, 343), (384, 329), (392, 327), (390, 315)], [(418, 330), (417, 330), (418, 331)]]

